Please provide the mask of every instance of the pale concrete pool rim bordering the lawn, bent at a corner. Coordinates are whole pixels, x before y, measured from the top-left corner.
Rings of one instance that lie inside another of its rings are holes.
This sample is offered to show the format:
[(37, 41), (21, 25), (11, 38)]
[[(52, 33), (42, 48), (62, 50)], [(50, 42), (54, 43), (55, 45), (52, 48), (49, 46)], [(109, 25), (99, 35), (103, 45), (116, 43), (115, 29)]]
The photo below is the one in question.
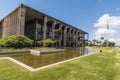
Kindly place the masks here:
[(42, 69), (45, 69), (45, 68), (49, 68), (49, 67), (52, 67), (52, 66), (55, 66), (55, 65), (58, 65), (58, 64), (62, 64), (62, 63), (68, 62), (68, 61), (72, 61), (72, 60), (75, 60), (75, 59), (78, 59), (78, 58), (81, 58), (81, 57), (89, 56), (89, 55), (92, 55), (92, 54), (97, 53), (97, 52), (98, 51), (90, 53), (90, 54), (86, 54), (86, 55), (83, 55), (83, 56), (75, 57), (75, 58), (72, 58), (72, 59), (68, 59), (68, 60), (57, 62), (57, 63), (53, 63), (53, 64), (50, 64), (50, 65), (46, 65), (46, 66), (43, 66), (43, 67), (38, 67), (38, 68), (32, 68), (32, 67), (30, 67), (30, 66), (28, 66), (28, 65), (26, 65), (26, 64), (24, 64), (24, 63), (22, 63), (22, 62), (20, 62), (20, 61), (18, 61), (16, 59), (13, 59), (11, 57), (1, 57), (0, 60), (7, 59), (9, 61), (12, 61), (12, 62), (14, 62), (14, 63), (16, 63), (16, 64), (26, 68), (29, 71), (34, 72), (34, 71), (38, 71), (38, 70), (42, 70)]

